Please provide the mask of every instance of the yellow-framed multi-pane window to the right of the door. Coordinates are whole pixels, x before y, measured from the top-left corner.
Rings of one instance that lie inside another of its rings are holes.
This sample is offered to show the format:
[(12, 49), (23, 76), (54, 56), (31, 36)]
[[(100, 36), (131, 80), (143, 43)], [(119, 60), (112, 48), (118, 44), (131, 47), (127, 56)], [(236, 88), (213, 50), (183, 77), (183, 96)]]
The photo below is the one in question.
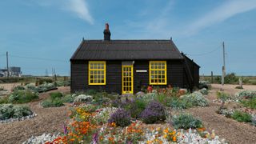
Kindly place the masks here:
[(166, 84), (166, 61), (150, 61), (150, 85)]

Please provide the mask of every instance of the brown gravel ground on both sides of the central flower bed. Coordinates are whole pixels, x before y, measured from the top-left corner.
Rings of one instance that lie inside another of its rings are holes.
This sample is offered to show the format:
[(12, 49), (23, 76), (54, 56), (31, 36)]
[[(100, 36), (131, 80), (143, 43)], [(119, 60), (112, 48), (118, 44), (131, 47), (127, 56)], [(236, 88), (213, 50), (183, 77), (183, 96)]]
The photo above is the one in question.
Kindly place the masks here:
[[(11, 86), (11, 85), (10, 85)], [(13, 86), (13, 85), (12, 85)], [(234, 89), (236, 85), (225, 85), (224, 91), (229, 94), (235, 94), (240, 91)], [(256, 86), (243, 86), (245, 90), (256, 90)], [(236, 122), (233, 119), (226, 118), (222, 115), (216, 114), (219, 105), (214, 104), (212, 100), (216, 99), (216, 91), (222, 88), (221, 85), (212, 85), (212, 90), (207, 98), (210, 99), (210, 106), (196, 107), (186, 110), (194, 114), (194, 116), (201, 118), (206, 129), (215, 130), (215, 134), (220, 138), (225, 138), (230, 143), (234, 144), (254, 144), (256, 143), (256, 127), (247, 123)], [(68, 92), (69, 87), (60, 87), (59, 91)], [(54, 90), (54, 91), (58, 91)], [(68, 106), (57, 108), (42, 108), (39, 102), (49, 96), (50, 92), (40, 94), (38, 102), (30, 102), (28, 105), (33, 110), (37, 117), (27, 119), (21, 122), (13, 122), (8, 124), (0, 124), (0, 144), (4, 143), (22, 143), (32, 135), (38, 136), (43, 133), (62, 132), (62, 124), (67, 120)], [(160, 125), (153, 125), (160, 126)]]

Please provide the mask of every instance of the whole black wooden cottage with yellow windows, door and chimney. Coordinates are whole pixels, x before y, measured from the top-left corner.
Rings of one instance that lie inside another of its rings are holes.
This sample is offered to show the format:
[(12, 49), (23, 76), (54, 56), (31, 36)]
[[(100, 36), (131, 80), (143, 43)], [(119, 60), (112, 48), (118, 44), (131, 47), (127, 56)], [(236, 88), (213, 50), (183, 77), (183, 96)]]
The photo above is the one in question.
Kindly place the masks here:
[(199, 68), (170, 40), (82, 40), (70, 58), (71, 91), (135, 94), (143, 86), (198, 87)]

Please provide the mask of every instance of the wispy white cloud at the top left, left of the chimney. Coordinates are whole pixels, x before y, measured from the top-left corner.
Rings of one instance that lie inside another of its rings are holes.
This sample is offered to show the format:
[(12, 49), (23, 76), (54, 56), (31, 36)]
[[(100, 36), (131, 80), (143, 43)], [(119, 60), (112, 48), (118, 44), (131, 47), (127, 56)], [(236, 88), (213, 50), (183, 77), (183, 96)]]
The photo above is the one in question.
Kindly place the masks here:
[(70, 11), (78, 18), (91, 25), (94, 24), (94, 18), (90, 15), (86, 0), (30, 0), (30, 2), (36, 2), (39, 6), (55, 6), (60, 10)]

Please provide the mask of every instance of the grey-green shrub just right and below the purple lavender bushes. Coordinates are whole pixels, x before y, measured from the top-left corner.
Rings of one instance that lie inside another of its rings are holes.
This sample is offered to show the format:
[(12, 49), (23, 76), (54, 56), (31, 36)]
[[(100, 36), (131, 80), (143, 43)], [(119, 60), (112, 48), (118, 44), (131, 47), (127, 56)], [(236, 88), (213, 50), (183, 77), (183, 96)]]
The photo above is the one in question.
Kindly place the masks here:
[(202, 121), (194, 118), (191, 114), (179, 114), (172, 118), (172, 125), (175, 129), (193, 129), (202, 127)]

